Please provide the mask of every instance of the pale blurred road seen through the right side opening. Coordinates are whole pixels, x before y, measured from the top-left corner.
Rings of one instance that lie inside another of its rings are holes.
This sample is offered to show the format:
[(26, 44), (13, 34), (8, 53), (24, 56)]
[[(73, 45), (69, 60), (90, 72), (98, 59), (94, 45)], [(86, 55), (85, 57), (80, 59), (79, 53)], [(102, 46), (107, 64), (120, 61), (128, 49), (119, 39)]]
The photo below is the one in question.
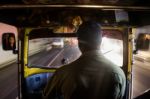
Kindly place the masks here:
[(135, 61), (133, 65), (133, 97), (150, 88), (150, 63)]

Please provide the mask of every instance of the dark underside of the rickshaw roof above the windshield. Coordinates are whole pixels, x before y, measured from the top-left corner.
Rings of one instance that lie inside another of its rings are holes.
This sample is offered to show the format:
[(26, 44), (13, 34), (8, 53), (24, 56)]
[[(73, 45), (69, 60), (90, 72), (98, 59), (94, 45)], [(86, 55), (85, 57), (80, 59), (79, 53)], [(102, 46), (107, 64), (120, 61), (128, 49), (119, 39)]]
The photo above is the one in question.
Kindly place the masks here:
[(128, 12), (127, 25), (150, 24), (147, 0), (0, 0), (0, 4), (0, 22), (16, 27), (62, 25), (69, 16), (88, 16), (101, 24), (105, 25), (106, 20), (114, 25), (116, 10)]

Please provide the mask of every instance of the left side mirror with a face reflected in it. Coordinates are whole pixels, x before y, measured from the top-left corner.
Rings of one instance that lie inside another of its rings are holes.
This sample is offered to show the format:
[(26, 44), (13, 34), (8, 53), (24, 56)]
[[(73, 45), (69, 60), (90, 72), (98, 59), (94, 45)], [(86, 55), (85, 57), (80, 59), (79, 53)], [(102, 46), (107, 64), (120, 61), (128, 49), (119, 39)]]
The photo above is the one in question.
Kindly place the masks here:
[(16, 49), (16, 39), (14, 33), (4, 33), (2, 35), (2, 48), (3, 50)]

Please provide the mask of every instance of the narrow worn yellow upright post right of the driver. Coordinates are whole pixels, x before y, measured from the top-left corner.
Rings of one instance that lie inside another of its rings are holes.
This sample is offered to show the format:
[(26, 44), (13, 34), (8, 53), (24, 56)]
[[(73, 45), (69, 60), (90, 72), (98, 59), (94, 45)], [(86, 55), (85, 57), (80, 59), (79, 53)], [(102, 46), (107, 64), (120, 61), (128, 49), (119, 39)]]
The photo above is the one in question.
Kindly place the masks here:
[(124, 30), (124, 67), (126, 74), (126, 93), (124, 99), (132, 96), (132, 34), (128, 27)]

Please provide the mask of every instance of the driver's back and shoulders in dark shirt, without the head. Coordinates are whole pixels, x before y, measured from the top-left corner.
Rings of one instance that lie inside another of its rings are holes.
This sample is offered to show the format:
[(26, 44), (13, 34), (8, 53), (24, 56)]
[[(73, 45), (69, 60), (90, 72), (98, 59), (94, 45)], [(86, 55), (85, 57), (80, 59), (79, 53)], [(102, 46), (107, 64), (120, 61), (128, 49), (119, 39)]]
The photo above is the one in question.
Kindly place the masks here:
[(119, 99), (125, 89), (123, 71), (98, 51), (60, 68), (53, 82), (64, 99)]

